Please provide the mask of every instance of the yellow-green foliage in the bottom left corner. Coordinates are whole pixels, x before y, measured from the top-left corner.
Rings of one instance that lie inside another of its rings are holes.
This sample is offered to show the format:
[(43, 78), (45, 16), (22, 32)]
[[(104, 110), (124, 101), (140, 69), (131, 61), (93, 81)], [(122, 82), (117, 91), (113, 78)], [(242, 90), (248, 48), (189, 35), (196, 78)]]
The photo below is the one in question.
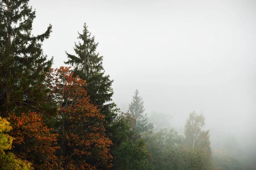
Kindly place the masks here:
[(7, 132), (12, 130), (10, 123), (0, 117), (0, 169), (1, 170), (33, 170), (31, 163), (16, 158), (13, 153), (6, 153), (5, 150), (12, 148), (12, 136)]

